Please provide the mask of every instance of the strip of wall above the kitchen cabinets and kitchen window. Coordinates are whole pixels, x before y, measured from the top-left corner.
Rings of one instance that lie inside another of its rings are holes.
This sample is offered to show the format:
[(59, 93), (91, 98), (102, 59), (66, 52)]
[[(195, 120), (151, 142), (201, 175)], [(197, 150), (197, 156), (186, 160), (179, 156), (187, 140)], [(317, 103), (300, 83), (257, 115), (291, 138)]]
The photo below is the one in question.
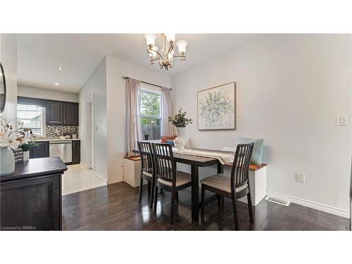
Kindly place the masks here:
[(18, 84), (17, 95), (40, 99), (78, 102), (78, 94), (42, 89), (39, 87), (30, 87), (25, 84)]

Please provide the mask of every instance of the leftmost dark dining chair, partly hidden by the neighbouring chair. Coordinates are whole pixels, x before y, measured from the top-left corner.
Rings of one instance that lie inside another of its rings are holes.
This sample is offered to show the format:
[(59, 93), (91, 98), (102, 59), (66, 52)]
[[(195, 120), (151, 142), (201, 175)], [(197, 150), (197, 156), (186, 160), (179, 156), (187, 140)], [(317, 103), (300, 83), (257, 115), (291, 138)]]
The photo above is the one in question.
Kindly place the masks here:
[(150, 197), (150, 208), (153, 208), (153, 193), (155, 186), (155, 169), (150, 142), (137, 142), (139, 155), (141, 156), (142, 170), (139, 183), (139, 200), (142, 200), (143, 180), (148, 182), (148, 195)]

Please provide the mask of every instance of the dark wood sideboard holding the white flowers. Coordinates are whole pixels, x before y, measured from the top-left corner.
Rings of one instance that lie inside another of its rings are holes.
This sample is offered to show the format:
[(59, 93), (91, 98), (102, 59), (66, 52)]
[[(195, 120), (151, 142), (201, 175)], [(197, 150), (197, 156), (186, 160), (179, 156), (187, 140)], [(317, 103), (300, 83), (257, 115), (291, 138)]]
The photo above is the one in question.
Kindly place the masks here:
[(0, 230), (61, 230), (60, 158), (34, 158), (0, 176)]

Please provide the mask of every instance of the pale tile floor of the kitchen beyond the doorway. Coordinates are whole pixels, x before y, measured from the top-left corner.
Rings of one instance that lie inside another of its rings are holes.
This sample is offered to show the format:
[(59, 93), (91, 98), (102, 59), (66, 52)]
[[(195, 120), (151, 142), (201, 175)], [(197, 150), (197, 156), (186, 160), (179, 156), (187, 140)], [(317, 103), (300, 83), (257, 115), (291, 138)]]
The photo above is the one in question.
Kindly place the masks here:
[(101, 178), (94, 175), (93, 170), (86, 170), (80, 164), (68, 165), (62, 177), (62, 195), (73, 194), (106, 185)]

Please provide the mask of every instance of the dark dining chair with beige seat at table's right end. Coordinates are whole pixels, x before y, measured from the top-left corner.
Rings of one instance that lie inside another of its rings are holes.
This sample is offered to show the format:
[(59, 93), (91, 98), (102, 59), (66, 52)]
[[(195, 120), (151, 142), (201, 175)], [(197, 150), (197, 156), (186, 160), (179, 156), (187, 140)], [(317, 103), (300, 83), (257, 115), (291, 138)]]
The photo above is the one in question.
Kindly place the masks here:
[(253, 222), (251, 191), (249, 189), (248, 181), (249, 164), (251, 163), (253, 145), (254, 143), (237, 145), (231, 176), (218, 174), (201, 180), (201, 220), (204, 220), (204, 208), (206, 206), (205, 193), (206, 190), (208, 190), (232, 200), (235, 230), (239, 230), (237, 199), (247, 196), (249, 219)]

